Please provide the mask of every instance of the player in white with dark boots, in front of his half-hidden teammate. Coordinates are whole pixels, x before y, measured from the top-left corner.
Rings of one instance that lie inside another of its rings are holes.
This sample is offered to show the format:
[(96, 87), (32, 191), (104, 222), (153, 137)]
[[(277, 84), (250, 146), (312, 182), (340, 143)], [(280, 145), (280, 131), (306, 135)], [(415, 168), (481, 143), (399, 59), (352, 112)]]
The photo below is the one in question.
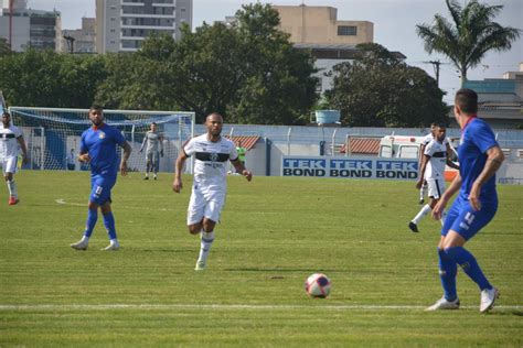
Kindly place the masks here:
[[(446, 132), (447, 128), (445, 126), (436, 126), (435, 138), (425, 148), (416, 188), (419, 189), (424, 181), (426, 181), (430, 202), (408, 222), (408, 228), (413, 232), (419, 231), (419, 221), (433, 210), (445, 191), (445, 165), (448, 164), (450, 167), (459, 168), (458, 165), (450, 161), (449, 144), (445, 137)], [(444, 220), (445, 218), (441, 219), (441, 224)]]

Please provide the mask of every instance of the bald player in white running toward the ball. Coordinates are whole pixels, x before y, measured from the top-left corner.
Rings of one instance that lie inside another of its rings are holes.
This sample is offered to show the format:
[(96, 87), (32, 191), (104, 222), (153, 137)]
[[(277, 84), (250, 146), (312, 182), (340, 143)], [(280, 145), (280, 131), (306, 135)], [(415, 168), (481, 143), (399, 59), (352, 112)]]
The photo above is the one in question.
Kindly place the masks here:
[(209, 251), (214, 241), (214, 227), (220, 219), (227, 191), (226, 163), (231, 163), (237, 173), (250, 181), (253, 174), (239, 161), (234, 142), (222, 138), (223, 118), (211, 113), (205, 119), (207, 132), (191, 139), (180, 152), (175, 163), (172, 189), (182, 189), (182, 168), (185, 160), (192, 155), (194, 163), (194, 182), (188, 210), (188, 227), (192, 235), (201, 235), (200, 255), (196, 271), (205, 269)]

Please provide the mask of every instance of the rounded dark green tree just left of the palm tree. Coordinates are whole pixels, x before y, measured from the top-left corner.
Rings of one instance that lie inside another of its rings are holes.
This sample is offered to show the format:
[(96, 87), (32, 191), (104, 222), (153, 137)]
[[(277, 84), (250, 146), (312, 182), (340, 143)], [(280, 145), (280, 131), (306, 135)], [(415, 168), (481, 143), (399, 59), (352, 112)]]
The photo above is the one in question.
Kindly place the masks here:
[(423, 69), (407, 66), (378, 44), (360, 44), (352, 63), (334, 66), (329, 105), (351, 127), (426, 127), (448, 121), (444, 93)]

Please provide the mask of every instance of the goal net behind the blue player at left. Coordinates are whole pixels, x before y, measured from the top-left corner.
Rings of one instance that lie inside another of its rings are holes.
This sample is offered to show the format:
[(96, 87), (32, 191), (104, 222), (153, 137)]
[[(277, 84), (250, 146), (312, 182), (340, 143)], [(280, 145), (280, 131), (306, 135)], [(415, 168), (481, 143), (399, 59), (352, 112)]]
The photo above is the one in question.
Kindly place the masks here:
[[(92, 126), (88, 109), (10, 107), (13, 123), (21, 128), (32, 170), (66, 170), (67, 156), (79, 153), (82, 133)], [(194, 112), (104, 110), (105, 122), (119, 129), (132, 148), (129, 171), (145, 172), (146, 154), (139, 150), (152, 122), (161, 133), (163, 157), (160, 172), (173, 172), (174, 160), (183, 143), (194, 135)], [(121, 155), (121, 149), (118, 148)], [(189, 162), (191, 163), (191, 162)], [(89, 170), (76, 159), (71, 170)], [(192, 172), (192, 167), (185, 168)]]

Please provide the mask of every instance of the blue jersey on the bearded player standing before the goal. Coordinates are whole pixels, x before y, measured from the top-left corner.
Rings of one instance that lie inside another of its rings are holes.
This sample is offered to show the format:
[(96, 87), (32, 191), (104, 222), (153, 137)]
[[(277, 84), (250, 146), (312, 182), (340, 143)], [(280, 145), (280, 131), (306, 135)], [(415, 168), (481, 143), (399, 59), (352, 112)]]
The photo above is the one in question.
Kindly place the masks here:
[(122, 146), (125, 142), (126, 139), (119, 130), (105, 123), (102, 128), (90, 127), (84, 131), (79, 150), (89, 154), (90, 174), (116, 177), (118, 173), (116, 145)]

